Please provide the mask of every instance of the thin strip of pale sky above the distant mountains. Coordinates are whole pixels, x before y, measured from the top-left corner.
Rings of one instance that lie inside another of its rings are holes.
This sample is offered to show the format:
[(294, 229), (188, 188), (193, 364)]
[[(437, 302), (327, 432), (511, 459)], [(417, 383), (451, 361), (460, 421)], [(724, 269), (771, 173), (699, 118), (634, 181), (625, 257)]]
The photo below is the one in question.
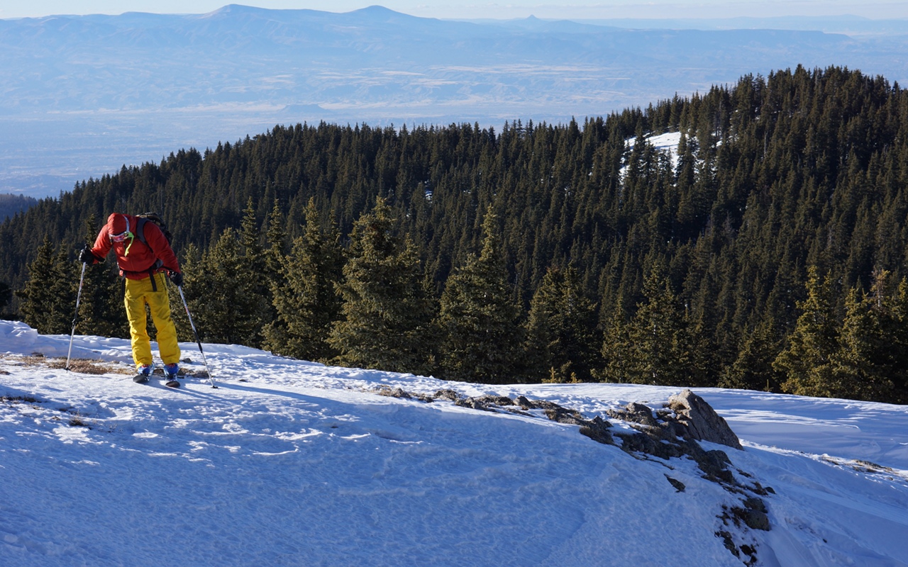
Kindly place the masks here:
[(204, 14), (222, 5), (309, 8), (349, 12), (383, 5), (410, 15), (439, 18), (677, 18), (768, 17), (778, 15), (859, 15), (873, 19), (908, 17), (906, 0), (0, 0), (0, 18), (56, 14)]

